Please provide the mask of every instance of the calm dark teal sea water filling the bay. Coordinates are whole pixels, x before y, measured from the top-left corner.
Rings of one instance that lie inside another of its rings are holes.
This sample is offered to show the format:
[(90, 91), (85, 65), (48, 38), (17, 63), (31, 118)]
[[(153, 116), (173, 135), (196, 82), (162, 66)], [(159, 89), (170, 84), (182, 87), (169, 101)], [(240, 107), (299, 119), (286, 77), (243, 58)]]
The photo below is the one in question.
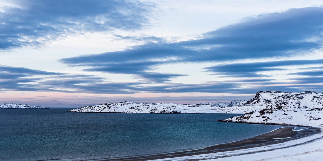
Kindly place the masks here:
[(281, 126), (218, 122), (235, 114), (71, 113), (0, 110), (1, 161), (81, 161), (199, 149)]

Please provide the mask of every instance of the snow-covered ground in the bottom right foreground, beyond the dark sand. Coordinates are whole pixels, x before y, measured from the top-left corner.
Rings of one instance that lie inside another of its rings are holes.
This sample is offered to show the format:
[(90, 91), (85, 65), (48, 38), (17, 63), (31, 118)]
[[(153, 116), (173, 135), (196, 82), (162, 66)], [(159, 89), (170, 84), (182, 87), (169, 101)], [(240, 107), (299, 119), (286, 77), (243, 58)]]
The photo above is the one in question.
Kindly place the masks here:
[(154, 161), (321, 161), (322, 156), (323, 133), (320, 133), (268, 146)]

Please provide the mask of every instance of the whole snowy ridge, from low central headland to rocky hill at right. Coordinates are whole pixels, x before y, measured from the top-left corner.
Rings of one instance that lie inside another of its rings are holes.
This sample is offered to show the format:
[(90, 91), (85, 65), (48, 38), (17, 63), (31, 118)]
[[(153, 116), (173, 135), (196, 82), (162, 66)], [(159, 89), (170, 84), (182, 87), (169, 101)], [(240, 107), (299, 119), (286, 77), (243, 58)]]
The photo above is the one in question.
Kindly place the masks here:
[(251, 100), (231, 103), (142, 103), (129, 101), (84, 106), (68, 112), (105, 113), (235, 113), (225, 122), (323, 126), (323, 93), (261, 91)]

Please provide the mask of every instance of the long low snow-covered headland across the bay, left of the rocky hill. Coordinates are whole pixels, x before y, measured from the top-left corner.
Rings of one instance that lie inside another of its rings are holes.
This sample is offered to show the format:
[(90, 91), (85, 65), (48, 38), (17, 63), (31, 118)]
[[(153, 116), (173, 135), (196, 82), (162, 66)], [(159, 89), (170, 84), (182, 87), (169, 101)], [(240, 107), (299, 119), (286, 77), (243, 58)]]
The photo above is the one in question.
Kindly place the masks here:
[[(133, 102), (105, 103), (94, 106), (84, 106), (68, 112), (109, 112), (109, 113), (245, 113), (246, 109), (234, 110), (230, 104), (243, 104), (247, 100), (234, 103), (199, 103), (180, 105), (173, 103), (142, 103)], [(237, 108), (239, 108), (237, 106)]]

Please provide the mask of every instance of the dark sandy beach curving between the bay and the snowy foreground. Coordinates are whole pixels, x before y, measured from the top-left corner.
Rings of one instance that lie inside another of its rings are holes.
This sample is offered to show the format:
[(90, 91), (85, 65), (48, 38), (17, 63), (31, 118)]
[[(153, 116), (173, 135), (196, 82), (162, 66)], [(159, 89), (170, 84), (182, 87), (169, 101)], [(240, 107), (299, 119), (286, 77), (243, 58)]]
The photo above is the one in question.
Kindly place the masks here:
[[(115, 159), (106, 159), (110, 161), (143, 161), (143, 160), (205, 160), (205, 159), (216, 159), (236, 156), (234, 154), (229, 155), (219, 155), (213, 156), (213, 154), (217, 153), (227, 153), (234, 151), (241, 151), (253, 149), (253, 152), (248, 152), (248, 154), (256, 153), (264, 146), (271, 146), (277, 144), (284, 144), (286, 142), (292, 140), (298, 140), (304, 137), (312, 136), (315, 134), (320, 134), (321, 129), (316, 127), (307, 127), (307, 129), (303, 129), (300, 131), (293, 131), (294, 127), (283, 127), (271, 131), (266, 134), (262, 134), (259, 136), (255, 136), (252, 138), (239, 140), (231, 143), (220, 144), (215, 146), (206, 147), (198, 150), (190, 150), (176, 153), (167, 153), (167, 154), (158, 154), (158, 155), (150, 155), (150, 156), (137, 156), (137, 157), (128, 157), (128, 158), (115, 158)], [(263, 150), (263, 149), (262, 149)], [(209, 156), (209, 157), (203, 157)], [(237, 154), (238, 155), (238, 154)], [(210, 157), (212, 156), (212, 157)]]

